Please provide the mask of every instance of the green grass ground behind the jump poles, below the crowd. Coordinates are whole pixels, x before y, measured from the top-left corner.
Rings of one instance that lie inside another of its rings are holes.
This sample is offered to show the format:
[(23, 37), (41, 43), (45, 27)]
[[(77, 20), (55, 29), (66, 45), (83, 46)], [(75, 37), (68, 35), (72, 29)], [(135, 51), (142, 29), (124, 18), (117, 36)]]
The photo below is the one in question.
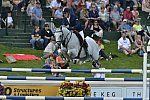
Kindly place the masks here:
[[(111, 61), (101, 60), (102, 67), (106, 69), (142, 69), (143, 58), (137, 54), (132, 56), (125, 56), (117, 51), (117, 41), (111, 41), (110, 44), (105, 44), (105, 50), (107, 53), (118, 55), (118, 58), (114, 58)], [(41, 50), (32, 50), (30, 48), (15, 48), (0, 45), (0, 58), (4, 63), (0, 63), (1, 68), (42, 68), (44, 60), (40, 61), (17, 61), (16, 63), (8, 64), (5, 57), (2, 54), (15, 53), (15, 54), (34, 54), (38, 57), (42, 56)], [(71, 69), (91, 69), (91, 63), (86, 64), (72, 64)], [(51, 76), (51, 73), (26, 73), (26, 72), (0, 72), (0, 75), (13, 75), (13, 76)], [(65, 76), (76, 77), (93, 77), (92, 74), (85, 73), (65, 73)], [(107, 74), (106, 77), (142, 77), (142, 74)]]

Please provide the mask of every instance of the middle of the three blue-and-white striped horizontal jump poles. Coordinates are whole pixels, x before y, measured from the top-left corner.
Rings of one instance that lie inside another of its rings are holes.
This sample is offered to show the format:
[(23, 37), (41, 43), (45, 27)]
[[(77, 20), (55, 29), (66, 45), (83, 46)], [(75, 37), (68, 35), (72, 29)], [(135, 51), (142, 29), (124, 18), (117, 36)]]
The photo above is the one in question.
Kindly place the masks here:
[[(143, 78), (87, 78), (87, 77), (28, 77), (0, 76), (0, 80), (50, 80), (50, 81), (143, 81)], [(150, 80), (147, 78), (147, 81)]]

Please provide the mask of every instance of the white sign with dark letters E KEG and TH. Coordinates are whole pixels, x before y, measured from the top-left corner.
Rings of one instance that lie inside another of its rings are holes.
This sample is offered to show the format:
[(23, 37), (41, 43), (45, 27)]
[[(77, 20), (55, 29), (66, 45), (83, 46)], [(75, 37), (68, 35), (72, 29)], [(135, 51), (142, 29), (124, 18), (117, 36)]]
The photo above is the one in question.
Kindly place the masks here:
[[(142, 98), (142, 87), (92, 87), (92, 97), (124, 97)], [(149, 97), (149, 87), (147, 87), (147, 97)]]

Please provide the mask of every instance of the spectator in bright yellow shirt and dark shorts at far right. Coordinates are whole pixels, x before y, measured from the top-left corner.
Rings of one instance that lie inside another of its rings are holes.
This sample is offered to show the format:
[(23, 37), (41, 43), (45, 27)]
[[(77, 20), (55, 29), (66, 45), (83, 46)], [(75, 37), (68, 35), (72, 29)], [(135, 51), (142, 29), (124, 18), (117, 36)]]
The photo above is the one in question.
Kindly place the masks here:
[(140, 35), (142, 38), (142, 42), (145, 43), (145, 37), (150, 39), (150, 36), (143, 30), (143, 27), (140, 25), (139, 20), (135, 20), (135, 24), (133, 25), (133, 31)]

